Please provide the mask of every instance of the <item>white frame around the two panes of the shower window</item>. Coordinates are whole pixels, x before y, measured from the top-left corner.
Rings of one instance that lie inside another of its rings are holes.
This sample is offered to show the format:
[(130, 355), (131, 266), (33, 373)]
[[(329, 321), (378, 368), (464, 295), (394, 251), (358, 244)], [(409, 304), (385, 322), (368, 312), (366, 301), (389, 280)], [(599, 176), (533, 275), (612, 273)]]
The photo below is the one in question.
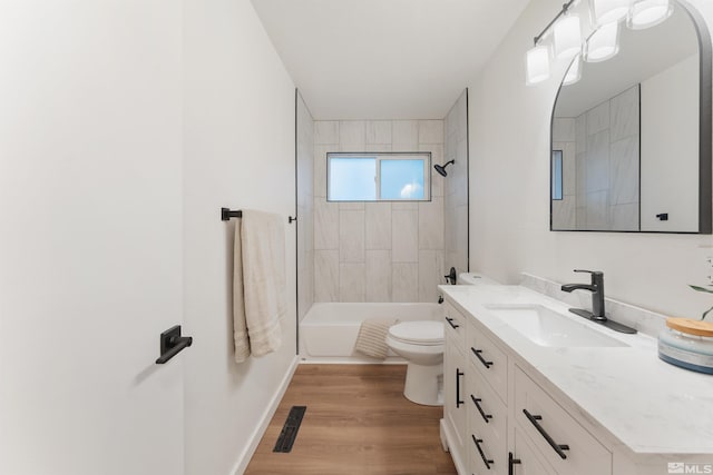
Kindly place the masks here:
[[(330, 197), (330, 178), (332, 176), (332, 158), (373, 158), (375, 160), (377, 198), (364, 199), (333, 199)], [(381, 198), (381, 161), (382, 160), (423, 160), (423, 199), (382, 199)], [(329, 151), (326, 152), (326, 201), (328, 202), (428, 202), (433, 196), (431, 192), (431, 159), (430, 151)]]

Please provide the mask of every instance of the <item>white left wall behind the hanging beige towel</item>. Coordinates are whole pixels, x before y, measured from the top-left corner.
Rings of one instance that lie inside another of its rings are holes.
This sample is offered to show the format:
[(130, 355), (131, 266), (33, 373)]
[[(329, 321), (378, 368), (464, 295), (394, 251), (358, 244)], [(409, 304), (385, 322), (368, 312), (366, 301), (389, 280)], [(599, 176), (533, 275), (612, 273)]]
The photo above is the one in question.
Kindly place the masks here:
[[(184, 0), (186, 474), (226, 475), (250, 457), (252, 437), (295, 357), (294, 85), (248, 0)], [(233, 360), (235, 220), (221, 207), (285, 218), (289, 313), (283, 347)], [(258, 434), (260, 435), (260, 434)], [(243, 453), (241, 454), (241, 451)]]

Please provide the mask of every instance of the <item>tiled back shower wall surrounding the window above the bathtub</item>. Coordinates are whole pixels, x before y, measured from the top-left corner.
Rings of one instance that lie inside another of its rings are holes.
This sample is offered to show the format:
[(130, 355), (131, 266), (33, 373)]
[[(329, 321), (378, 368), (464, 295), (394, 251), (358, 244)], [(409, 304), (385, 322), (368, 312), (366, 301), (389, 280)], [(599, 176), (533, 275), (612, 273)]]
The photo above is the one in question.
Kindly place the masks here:
[[(446, 178), (432, 166), (443, 136), (443, 120), (314, 122), (314, 301), (437, 301)], [(430, 151), (431, 201), (329, 202), (331, 151)]]

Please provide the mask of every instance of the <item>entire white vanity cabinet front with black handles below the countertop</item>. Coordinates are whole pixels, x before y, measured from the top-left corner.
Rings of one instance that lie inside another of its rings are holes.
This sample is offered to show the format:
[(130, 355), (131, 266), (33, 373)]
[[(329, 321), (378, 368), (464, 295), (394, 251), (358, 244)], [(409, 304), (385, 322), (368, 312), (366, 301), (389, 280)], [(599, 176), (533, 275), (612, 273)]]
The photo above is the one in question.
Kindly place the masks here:
[(460, 475), (611, 475), (612, 453), (488, 336), (446, 305), (445, 446)]

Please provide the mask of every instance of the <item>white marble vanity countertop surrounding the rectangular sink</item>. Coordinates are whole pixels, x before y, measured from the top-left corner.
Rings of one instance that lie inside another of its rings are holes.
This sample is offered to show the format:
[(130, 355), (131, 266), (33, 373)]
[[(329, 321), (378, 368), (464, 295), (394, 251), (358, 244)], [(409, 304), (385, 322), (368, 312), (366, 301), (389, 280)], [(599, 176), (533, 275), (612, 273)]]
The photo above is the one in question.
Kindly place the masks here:
[[(569, 314), (569, 305), (526, 287), (484, 284), (439, 288), (459, 310), (472, 315), (508, 346), (519, 366), (555, 398), (564, 397), (566, 406), (586, 418), (612, 446), (632, 455), (713, 454), (713, 376), (662, 362), (656, 338), (604, 328)], [(628, 346), (539, 346), (486, 307), (494, 304), (541, 305)]]

